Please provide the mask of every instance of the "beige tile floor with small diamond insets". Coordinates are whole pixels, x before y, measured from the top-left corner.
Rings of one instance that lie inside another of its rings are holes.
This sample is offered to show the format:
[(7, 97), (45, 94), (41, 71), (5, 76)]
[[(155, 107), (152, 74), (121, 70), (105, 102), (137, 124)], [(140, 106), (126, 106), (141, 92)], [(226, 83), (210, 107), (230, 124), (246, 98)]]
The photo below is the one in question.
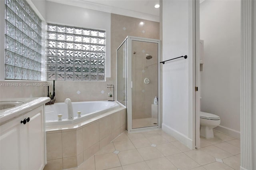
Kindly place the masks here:
[(240, 140), (214, 131), (190, 150), (161, 129), (122, 133), (70, 170), (239, 170)]

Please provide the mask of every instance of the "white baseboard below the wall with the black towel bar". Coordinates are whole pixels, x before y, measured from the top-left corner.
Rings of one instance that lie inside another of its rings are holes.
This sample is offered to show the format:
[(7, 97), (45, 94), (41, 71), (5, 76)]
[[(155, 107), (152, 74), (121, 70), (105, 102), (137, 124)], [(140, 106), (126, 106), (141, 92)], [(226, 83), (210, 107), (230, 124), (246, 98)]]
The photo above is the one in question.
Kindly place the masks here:
[(184, 134), (182, 134), (182, 133), (178, 132), (177, 130), (165, 125), (164, 123), (162, 123), (162, 130), (164, 130), (164, 132), (172, 135), (174, 138), (176, 138), (182, 144), (186, 145), (188, 148), (195, 149), (195, 146), (193, 144), (194, 143), (193, 140), (188, 138)]

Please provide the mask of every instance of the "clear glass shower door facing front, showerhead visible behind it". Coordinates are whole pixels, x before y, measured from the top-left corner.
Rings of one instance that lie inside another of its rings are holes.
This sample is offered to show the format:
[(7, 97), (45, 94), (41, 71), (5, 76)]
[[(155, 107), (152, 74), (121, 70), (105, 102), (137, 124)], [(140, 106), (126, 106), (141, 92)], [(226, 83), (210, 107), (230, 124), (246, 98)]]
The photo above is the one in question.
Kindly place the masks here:
[(132, 40), (132, 129), (158, 126), (158, 43)]

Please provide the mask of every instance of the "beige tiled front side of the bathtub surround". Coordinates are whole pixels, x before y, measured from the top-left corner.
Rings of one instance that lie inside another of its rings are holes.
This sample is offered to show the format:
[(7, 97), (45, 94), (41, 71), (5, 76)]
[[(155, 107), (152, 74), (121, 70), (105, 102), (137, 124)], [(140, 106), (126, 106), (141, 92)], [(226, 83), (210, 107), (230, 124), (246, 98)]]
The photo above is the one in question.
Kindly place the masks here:
[(79, 166), (125, 129), (124, 108), (76, 129), (46, 132), (47, 165), (44, 170)]

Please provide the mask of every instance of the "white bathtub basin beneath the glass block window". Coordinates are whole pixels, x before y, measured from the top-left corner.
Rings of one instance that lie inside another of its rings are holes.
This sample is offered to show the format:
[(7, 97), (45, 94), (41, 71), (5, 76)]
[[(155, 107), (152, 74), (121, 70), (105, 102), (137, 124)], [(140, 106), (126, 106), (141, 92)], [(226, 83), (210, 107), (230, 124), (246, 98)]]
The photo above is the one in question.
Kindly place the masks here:
[[(68, 106), (65, 103), (54, 103), (45, 106), (46, 127), (72, 125), (90, 119), (97, 115), (107, 113), (120, 107), (115, 101), (86, 101), (72, 102), (74, 119), (68, 120)], [(77, 112), (81, 111), (81, 117)], [(62, 120), (58, 121), (58, 115), (62, 114)]]

